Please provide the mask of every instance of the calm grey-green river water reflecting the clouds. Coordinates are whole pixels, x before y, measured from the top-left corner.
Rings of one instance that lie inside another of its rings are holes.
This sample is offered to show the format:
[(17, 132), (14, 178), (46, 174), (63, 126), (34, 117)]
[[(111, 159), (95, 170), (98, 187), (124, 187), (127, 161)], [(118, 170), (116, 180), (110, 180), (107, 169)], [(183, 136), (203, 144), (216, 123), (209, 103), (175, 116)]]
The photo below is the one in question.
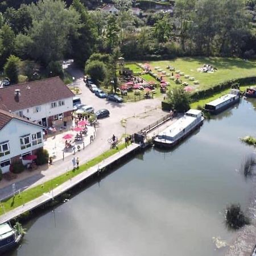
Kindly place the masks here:
[(172, 151), (150, 148), (67, 203), (31, 220), (8, 256), (224, 255), (212, 238), (231, 241), (230, 203), (249, 203), (240, 172), (256, 135), (251, 102), (205, 121)]

